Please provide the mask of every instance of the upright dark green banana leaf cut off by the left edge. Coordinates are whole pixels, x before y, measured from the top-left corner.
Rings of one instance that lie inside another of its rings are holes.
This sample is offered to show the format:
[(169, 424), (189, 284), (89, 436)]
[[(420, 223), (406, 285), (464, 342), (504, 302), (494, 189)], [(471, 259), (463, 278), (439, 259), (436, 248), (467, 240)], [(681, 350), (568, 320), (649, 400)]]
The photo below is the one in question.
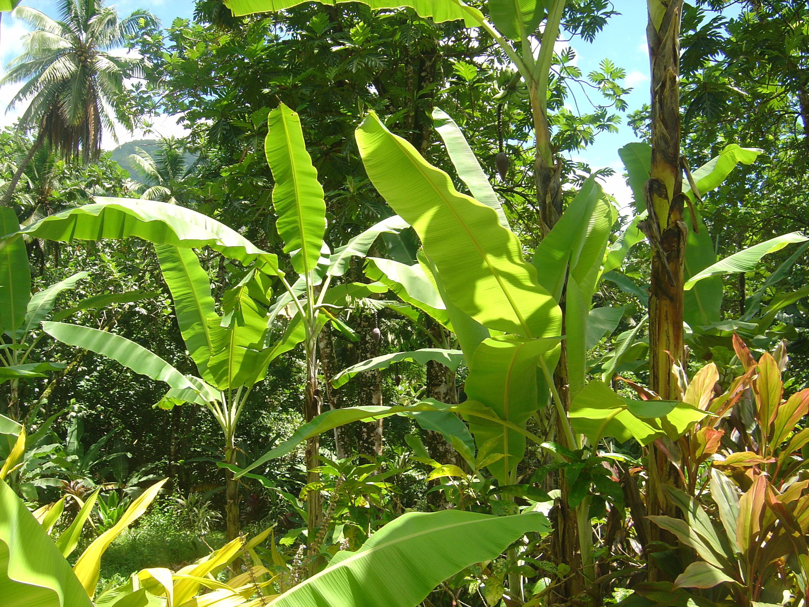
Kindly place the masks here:
[[(19, 219), (7, 206), (0, 208), (0, 230), (13, 234), (19, 230)], [(31, 297), (31, 268), (28, 249), (22, 236), (11, 236), (0, 249), (0, 330), (9, 335), (22, 324)]]

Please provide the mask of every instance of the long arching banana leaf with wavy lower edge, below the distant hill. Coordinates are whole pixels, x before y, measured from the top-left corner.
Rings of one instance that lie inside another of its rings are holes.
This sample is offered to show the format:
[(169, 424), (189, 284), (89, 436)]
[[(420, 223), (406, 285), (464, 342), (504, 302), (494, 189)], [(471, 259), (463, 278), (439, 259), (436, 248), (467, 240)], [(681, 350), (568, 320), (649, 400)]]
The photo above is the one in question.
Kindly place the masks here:
[(138, 236), (151, 243), (181, 248), (208, 245), (244, 265), (260, 256), (266, 264), (277, 267), (275, 255), (265, 253), (216, 219), (184, 206), (140, 198), (95, 197), (94, 204), (49, 215), (20, 231), (33, 238), (61, 242)]

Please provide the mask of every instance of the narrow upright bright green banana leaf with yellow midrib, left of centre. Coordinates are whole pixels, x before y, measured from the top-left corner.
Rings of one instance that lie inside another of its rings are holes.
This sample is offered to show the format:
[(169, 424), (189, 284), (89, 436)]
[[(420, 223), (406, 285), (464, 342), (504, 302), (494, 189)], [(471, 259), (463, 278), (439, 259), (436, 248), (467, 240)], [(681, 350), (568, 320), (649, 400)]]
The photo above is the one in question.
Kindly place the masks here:
[(323, 187), (306, 151), (298, 114), (280, 104), (269, 112), (267, 127), (265, 154), (275, 180), (275, 227), (284, 241), (284, 253), (297, 252), (292, 256), (294, 270), (306, 274), (320, 259), (326, 230)]

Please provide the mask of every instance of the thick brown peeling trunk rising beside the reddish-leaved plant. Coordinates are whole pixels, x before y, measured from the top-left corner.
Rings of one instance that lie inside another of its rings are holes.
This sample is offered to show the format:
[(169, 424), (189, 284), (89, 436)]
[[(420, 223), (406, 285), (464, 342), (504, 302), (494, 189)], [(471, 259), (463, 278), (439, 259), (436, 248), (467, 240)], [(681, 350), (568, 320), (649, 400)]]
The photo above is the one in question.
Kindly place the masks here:
[[(682, 0), (647, 0), (651, 67), (651, 174), (646, 183), (649, 219), (644, 232), (650, 240), (651, 285), (649, 295), (650, 388), (666, 400), (679, 400), (680, 389), (671, 373), (683, 360), (683, 262), (686, 228), (683, 222), (682, 170), (680, 167), (680, 17)], [(646, 511), (650, 516), (677, 517), (661, 483), (680, 485), (676, 467), (662, 449), (649, 446)], [(650, 525), (650, 541), (676, 545), (670, 533)], [(654, 558), (649, 579), (662, 579)]]

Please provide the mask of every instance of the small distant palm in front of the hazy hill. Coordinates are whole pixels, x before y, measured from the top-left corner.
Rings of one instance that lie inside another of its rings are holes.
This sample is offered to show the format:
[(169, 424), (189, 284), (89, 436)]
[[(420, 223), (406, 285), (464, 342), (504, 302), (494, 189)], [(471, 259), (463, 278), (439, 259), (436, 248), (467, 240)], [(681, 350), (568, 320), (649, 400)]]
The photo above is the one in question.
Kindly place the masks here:
[(154, 155), (142, 147), (136, 147), (129, 155), (132, 168), (141, 177), (141, 183), (129, 185), (142, 198), (171, 202), (182, 202), (181, 182), (192, 171), (185, 153), (184, 143), (173, 137), (160, 138)]

